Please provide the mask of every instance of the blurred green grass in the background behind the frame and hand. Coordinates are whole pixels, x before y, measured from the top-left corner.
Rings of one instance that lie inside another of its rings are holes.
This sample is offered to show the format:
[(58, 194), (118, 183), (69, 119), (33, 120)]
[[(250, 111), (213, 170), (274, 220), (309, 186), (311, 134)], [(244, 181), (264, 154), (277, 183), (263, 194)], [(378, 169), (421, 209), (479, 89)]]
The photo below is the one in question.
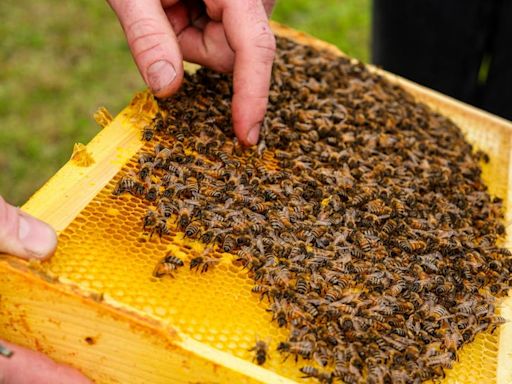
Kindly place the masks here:
[[(370, 0), (281, 0), (274, 20), (368, 60)], [(144, 88), (105, 1), (0, 1), (0, 195), (22, 204)]]

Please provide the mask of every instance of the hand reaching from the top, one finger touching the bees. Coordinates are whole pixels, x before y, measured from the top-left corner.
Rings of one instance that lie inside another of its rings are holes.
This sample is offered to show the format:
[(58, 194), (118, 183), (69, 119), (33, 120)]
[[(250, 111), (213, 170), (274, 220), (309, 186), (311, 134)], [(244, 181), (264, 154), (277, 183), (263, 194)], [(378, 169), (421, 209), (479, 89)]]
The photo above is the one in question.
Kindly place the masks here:
[(233, 71), (233, 128), (244, 145), (258, 141), (267, 108), (275, 38), (275, 0), (109, 0), (142, 77), (157, 97), (176, 92), (184, 58)]

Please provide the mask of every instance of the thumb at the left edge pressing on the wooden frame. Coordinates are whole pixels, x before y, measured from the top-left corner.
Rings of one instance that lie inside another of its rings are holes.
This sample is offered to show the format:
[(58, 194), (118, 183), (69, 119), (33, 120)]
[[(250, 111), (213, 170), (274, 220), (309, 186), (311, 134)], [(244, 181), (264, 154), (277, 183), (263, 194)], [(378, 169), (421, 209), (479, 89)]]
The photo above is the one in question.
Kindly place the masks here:
[(0, 196), (0, 252), (44, 259), (56, 246), (57, 236), (48, 224), (7, 204)]

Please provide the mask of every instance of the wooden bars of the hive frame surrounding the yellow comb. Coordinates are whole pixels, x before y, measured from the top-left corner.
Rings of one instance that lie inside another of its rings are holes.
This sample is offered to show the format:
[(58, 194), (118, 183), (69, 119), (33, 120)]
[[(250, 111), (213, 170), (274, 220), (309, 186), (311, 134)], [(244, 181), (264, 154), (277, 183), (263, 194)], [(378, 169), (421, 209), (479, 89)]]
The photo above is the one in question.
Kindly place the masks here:
[[(336, 47), (300, 32), (277, 24), (273, 28), (279, 35), (342, 54)], [(484, 169), (484, 178), (490, 192), (505, 199), (510, 223), (512, 124), (398, 76), (372, 70), (449, 116), (470, 142), (477, 146), (486, 143), (483, 149), (490, 152), (491, 165)], [(137, 95), (87, 145), (93, 164), (82, 167), (68, 162), (22, 209), (62, 232), (140, 149), (137, 119), (154, 113), (154, 108), (147, 93)], [(511, 232), (509, 226), (509, 248)], [(0, 287), (0, 337), (68, 363), (98, 383), (294, 382), (176, 332), (172, 324), (74, 281), (49, 275), (34, 262), (0, 256)], [(512, 299), (503, 303), (501, 313), (512, 319)], [(507, 340), (512, 340), (512, 326), (508, 324), (500, 331), (498, 383), (512, 382), (512, 345)]]

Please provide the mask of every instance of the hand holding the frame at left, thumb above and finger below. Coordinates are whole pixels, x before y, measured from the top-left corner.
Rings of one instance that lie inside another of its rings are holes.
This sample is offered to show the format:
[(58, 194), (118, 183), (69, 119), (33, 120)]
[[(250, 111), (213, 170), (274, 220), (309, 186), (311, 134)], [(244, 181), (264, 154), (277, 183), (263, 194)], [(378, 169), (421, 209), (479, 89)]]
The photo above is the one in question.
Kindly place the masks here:
[[(7, 204), (0, 196), (0, 253), (44, 259), (56, 246), (57, 236), (48, 224)], [(90, 383), (74, 369), (59, 365), (40, 353), (3, 340), (0, 345), (13, 352), (11, 357), (0, 355), (2, 384)]]

